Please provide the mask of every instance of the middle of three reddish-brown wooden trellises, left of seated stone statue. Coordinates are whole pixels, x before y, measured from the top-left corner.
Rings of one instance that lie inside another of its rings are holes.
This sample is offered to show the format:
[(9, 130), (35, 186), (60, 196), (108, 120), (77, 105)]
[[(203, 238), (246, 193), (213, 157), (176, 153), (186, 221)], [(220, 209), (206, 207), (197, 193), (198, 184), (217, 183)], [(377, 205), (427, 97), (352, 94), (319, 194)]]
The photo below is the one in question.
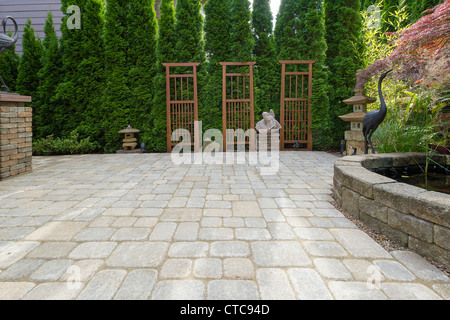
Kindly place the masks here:
[[(250, 150), (255, 149), (255, 137), (247, 141), (245, 137), (227, 135), (227, 129), (242, 130), (255, 128), (254, 92), (253, 92), (253, 66), (256, 62), (220, 62), (222, 65), (222, 133), (223, 150), (227, 150), (227, 143), (237, 145), (243, 150), (249, 145)], [(228, 73), (227, 67), (248, 67), (248, 73)], [(243, 142), (243, 143), (240, 143)]]

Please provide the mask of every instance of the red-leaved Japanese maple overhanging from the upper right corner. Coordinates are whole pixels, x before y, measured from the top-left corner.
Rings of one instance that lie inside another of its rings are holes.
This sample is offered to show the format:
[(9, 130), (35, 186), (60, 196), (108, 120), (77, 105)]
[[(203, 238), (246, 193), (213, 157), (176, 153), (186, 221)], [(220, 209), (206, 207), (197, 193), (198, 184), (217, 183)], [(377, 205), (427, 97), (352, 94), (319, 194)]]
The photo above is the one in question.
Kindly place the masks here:
[[(410, 83), (428, 85), (450, 73), (450, 0), (425, 11), (424, 17), (398, 36), (396, 49), (377, 60), (358, 77), (356, 89), (376, 74), (395, 68), (395, 77)], [(434, 67), (433, 67), (434, 66)], [(437, 67), (439, 66), (439, 67)]]

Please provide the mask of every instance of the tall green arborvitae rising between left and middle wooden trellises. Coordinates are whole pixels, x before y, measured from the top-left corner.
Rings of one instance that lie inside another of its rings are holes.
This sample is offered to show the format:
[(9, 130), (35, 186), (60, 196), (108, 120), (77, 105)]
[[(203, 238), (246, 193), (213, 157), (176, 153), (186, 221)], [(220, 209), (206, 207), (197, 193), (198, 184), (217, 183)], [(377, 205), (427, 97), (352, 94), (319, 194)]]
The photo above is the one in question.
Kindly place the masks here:
[(207, 79), (204, 108), (200, 110), (203, 129), (222, 127), (222, 66), (231, 59), (231, 0), (209, 0), (205, 6), (205, 51)]

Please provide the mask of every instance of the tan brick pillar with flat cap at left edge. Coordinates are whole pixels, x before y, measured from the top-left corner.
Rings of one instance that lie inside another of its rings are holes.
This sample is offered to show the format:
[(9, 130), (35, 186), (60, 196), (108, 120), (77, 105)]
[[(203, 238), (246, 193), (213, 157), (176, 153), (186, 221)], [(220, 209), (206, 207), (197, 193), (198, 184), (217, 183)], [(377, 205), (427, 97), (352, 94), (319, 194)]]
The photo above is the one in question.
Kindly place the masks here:
[(31, 171), (31, 97), (0, 94), (0, 180)]

